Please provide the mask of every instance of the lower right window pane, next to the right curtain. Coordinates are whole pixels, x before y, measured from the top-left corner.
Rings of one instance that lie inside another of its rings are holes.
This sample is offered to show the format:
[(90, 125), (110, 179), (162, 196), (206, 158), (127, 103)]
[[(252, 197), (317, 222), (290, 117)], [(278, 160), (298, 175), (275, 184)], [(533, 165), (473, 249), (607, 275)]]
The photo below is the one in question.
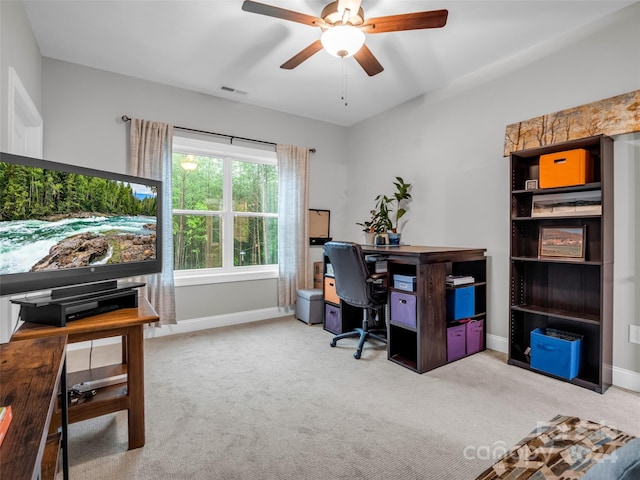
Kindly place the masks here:
[(234, 217), (234, 266), (278, 263), (278, 219)]

